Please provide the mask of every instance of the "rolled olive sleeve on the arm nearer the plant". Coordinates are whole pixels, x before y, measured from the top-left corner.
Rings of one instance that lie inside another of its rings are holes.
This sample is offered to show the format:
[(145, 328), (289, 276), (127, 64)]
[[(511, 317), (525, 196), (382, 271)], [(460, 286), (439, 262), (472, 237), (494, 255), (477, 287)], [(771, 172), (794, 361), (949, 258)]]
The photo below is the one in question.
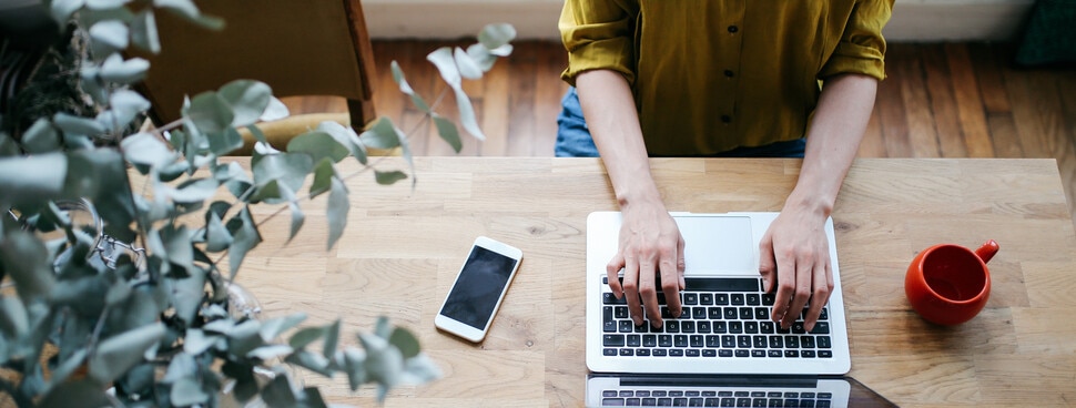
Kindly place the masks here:
[(637, 10), (630, 0), (566, 0), (559, 28), (568, 69), (561, 79), (575, 86), (579, 73), (606, 69), (635, 83)]

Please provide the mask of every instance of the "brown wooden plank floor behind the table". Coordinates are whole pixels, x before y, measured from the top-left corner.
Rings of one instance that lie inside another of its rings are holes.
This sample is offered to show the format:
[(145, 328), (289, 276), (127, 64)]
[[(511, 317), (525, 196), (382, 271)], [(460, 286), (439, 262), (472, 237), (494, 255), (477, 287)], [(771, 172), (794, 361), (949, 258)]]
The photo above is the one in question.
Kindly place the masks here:
[[(375, 106), (412, 140), (416, 155), (454, 154), (397, 91), (396, 60), (427, 101), (444, 91), (425, 55), (468, 42), (375, 41)], [(1076, 70), (1019, 69), (1015, 48), (996, 43), (891, 44), (889, 78), (860, 147), (863, 157), (1053, 157), (1076, 203)], [(515, 52), (480, 81), (468, 81), (485, 141), (465, 137), (460, 155), (551, 156), (566, 64), (556, 42), (517, 42)], [(455, 118), (450, 94), (438, 104)], [(293, 112), (343, 111), (343, 101), (285, 101)], [(461, 131), (463, 132), (463, 131)], [(1074, 213), (1076, 215), (1076, 213)]]

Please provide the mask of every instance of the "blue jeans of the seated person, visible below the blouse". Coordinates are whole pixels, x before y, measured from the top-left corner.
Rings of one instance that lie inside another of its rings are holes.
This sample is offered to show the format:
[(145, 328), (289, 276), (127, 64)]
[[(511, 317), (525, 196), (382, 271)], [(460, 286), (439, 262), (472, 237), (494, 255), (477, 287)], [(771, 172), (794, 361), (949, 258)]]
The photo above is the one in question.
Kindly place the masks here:
[[(560, 101), (561, 111), (557, 116), (557, 144), (554, 153), (557, 157), (598, 157), (598, 147), (590, 136), (587, 120), (582, 118), (579, 106), (579, 95), (576, 89), (569, 88)], [(737, 147), (728, 152), (714, 154), (714, 157), (803, 157), (806, 140), (796, 139), (788, 142), (776, 142), (758, 147)]]

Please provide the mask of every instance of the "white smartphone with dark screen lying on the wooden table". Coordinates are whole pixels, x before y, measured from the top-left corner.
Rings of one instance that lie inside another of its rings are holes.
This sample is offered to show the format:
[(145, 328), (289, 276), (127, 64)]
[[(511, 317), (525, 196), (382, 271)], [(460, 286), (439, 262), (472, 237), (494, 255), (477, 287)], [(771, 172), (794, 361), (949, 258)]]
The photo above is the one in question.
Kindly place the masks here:
[(474, 343), (486, 338), (522, 256), (511, 245), (485, 236), (476, 238), (434, 325)]

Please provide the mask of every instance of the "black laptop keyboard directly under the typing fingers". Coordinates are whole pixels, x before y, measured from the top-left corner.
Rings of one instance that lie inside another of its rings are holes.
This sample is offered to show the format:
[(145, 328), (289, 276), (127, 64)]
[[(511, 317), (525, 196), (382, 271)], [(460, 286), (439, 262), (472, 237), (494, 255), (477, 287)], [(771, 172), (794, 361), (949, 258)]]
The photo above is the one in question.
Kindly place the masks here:
[[(602, 277), (608, 285), (608, 278)], [(602, 292), (602, 354), (635, 357), (832, 358), (829, 305), (810, 333), (800, 314), (782, 329), (770, 319), (773, 294), (762, 293), (760, 278), (686, 278), (680, 293), (683, 312), (673, 318), (658, 294), (663, 325), (636, 326), (628, 303)]]

